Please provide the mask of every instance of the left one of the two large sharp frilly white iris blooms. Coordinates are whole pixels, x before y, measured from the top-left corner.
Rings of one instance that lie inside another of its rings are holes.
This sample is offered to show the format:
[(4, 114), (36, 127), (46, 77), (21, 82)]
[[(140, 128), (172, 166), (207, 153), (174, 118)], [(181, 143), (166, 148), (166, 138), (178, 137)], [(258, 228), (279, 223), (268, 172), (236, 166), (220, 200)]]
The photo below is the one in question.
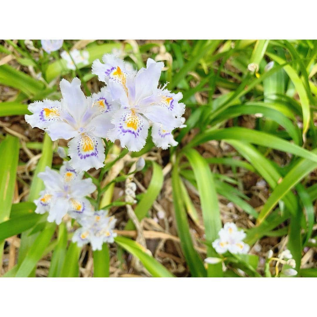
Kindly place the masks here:
[(102, 139), (107, 136), (111, 112), (118, 104), (109, 100), (109, 93), (102, 89), (99, 94), (86, 97), (81, 91), (81, 81), (74, 78), (70, 83), (61, 80), (61, 101), (36, 101), (29, 105), (32, 115), (25, 120), (34, 128), (45, 130), (50, 138), (72, 139), (68, 142), (70, 165), (76, 171), (104, 166), (105, 148)]

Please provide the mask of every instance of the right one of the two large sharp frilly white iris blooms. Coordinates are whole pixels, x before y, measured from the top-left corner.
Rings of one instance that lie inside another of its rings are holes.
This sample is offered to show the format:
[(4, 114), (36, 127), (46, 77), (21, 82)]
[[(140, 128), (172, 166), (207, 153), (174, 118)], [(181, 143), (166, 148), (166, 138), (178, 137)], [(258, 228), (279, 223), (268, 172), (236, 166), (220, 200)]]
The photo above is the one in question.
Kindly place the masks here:
[(112, 100), (120, 105), (111, 120), (114, 128), (107, 134), (109, 139), (119, 139), (122, 147), (139, 151), (153, 123), (154, 143), (164, 148), (175, 146), (171, 131), (184, 123), (185, 105), (178, 103), (183, 97), (181, 93), (158, 88), (164, 64), (149, 58), (146, 68), (136, 73), (128, 71), (124, 61), (113, 54), (104, 55), (102, 60), (104, 64), (94, 61), (92, 73), (107, 84)]

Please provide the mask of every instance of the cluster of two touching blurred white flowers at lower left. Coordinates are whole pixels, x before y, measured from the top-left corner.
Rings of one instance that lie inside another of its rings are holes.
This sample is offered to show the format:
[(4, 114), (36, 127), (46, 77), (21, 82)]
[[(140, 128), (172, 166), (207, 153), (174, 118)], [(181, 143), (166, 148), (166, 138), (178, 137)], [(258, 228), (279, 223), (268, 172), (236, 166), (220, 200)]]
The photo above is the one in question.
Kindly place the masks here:
[(40, 193), (40, 198), (34, 201), (35, 212), (44, 214), (48, 211), (47, 220), (57, 224), (68, 214), (82, 226), (75, 231), (73, 241), (78, 242), (79, 246), (90, 242), (93, 250), (100, 250), (102, 243), (113, 242), (116, 236), (113, 233), (116, 220), (114, 217), (108, 217), (105, 210), (94, 211), (85, 196), (94, 192), (96, 186), (91, 178), (82, 179), (82, 176), (83, 172), (77, 173), (67, 161), (59, 172), (47, 166), (44, 172), (38, 174), (44, 182), (45, 190)]

